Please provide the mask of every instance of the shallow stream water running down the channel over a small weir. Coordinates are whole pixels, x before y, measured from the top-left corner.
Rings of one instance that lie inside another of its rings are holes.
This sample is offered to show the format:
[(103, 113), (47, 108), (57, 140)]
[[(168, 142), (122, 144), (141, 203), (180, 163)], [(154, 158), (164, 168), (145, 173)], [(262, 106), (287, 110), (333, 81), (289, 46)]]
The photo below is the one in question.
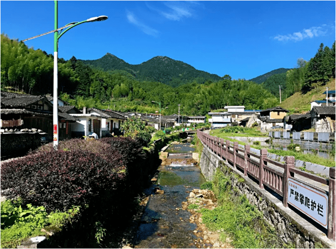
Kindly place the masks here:
[[(141, 217), (134, 248), (200, 248), (193, 234), (197, 226), (189, 221), (191, 213), (182, 210), (189, 192), (206, 181), (190, 155), (193, 149), (190, 144), (174, 144), (166, 150), (173, 155), (160, 166), (157, 184), (146, 190), (152, 195)], [(155, 193), (157, 189), (163, 193)]]

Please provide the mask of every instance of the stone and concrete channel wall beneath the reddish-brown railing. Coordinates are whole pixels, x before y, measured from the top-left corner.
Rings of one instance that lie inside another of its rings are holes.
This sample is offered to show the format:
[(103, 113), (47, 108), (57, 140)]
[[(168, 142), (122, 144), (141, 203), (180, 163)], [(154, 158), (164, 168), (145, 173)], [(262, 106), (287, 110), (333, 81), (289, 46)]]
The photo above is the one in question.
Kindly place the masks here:
[(263, 212), (264, 219), (276, 229), (279, 239), (285, 243), (293, 243), (296, 248), (315, 248), (318, 245), (316, 243), (320, 243), (325, 248), (335, 248), (335, 241), (328, 239), (325, 231), (316, 228), (294, 209), (284, 207), (277, 194), (273, 195), (266, 189), (260, 189), (255, 181), (234, 169), (205, 145), (200, 167), (207, 180), (212, 180), (217, 169), (230, 175), (235, 194), (237, 196), (246, 194), (250, 203)]

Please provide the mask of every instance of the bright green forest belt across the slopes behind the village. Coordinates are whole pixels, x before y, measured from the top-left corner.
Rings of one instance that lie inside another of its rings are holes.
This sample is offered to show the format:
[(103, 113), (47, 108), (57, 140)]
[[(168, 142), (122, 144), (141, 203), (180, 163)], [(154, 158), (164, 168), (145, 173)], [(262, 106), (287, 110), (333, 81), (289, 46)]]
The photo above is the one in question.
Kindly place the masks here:
[[(52, 54), (28, 48), (25, 43), (10, 39), (5, 34), (1, 34), (0, 52), (2, 91), (20, 91), (34, 95), (52, 93), (54, 65)], [(186, 82), (175, 87), (155, 80), (136, 78), (134, 76), (134, 72), (137, 72), (136, 67), (112, 55), (108, 55), (108, 58), (119, 65), (119, 69), (109, 71), (86, 65), (75, 57), (67, 61), (59, 58), (58, 90), (61, 99), (77, 108), (86, 106), (106, 109), (113, 106), (115, 110), (148, 113), (158, 109), (158, 105), (152, 102), (157, 101), (161, 103), (162, 114), (177, 113), (179, 105), (183, 115), (205, 115), (209, 110), (223, 109), (227, 105), (244, 105), (246, 109), (266, 109), (279, 104), (279, 99), (271, 94), (271, 92), (277, 94), (279, 82), (285, 80), (281, 96), (289, 97), (299, 91), (311, 91), (323, 87), (330, 78), (335, 78), (335, 57), (335, 43), (331, 49), (321, 44), (309, 62), (298, 59), (297, 68), (288, 70), (286, 75), (275, 74), (269, 77), (270, 82), (265, 84), (245, 79), (234, 80), (230, 75), (224, 75), (216, 81), (206, 80), (203, 77), (188, 81), (188, 68), (192, 68), (194, 72), (196, 69), (168, 57), (154, 57), (138, 65), (148, 70), (151, 69), (149, 67), (155, 66), (157, 74), (161, 74), (158, 77), (161, 78), (162, 75), (169, 78), (171, 71), (177, 71), (174, 66), (186, 68), (184, 71)], [(176, 81), (172, 82), (181, 83), (183, 75), (174, 78)], [(155, 73), (152, 76), (155, 76)], [(267, 87), (268, 89), (265, 89)]]

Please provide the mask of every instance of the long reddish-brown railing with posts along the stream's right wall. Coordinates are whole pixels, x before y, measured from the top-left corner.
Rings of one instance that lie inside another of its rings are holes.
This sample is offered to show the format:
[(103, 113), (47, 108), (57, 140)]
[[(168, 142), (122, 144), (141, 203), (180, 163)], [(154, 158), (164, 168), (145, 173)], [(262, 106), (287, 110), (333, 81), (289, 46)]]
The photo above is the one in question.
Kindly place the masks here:
[[(328, 195), (328, 217), (327, 217), (327, 237), (335, 237), (335, 168), (329, 169), (329, 179), (295, 169), (294, 157), (286, 156), (285, 163), (279, 163), (267, 158), (267, 150), (261, 149), (260, 155), (250, 152), (250, 146), (245, 145), (244, 149), (238, 148), (238, 142), (233, 146), (230, 141), (210, 136), (197, 131), (198, 138), (204, 145), (210, 148), (219, 157), (230, 162), (234, 168), (244, 170), (244, 176), (250, 175), (259, 181), (259, 188), (264, 189), (264, 185), (272, 189), (283, 197), (283, 205), (288, 207), (288, 179), (294, 179), (294, 174), (306, 177), (318, 183), (328, 185), (328, 192), (318, 187), (311, 187), (321, 193)], [(278, 167), (278, 168), (277, 168)], [(309, 184), (308, 184), (309, 185)]]

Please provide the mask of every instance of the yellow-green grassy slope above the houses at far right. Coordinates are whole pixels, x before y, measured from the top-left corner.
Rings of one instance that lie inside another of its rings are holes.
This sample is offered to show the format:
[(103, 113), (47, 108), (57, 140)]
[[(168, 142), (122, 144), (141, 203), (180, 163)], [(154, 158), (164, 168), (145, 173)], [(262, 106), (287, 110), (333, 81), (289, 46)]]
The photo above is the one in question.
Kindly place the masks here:
[(291, 113), (304, 113), (310, 110), (310, 102), (314, 100), (325, 100), (326, 87), (329, 90), (335, 90), (335, 79), (330, 80), (325, 85), (319, 85), (308, 92), (295, 92), (289, 98), (286, 98), (280, 106), (289, 110)]

